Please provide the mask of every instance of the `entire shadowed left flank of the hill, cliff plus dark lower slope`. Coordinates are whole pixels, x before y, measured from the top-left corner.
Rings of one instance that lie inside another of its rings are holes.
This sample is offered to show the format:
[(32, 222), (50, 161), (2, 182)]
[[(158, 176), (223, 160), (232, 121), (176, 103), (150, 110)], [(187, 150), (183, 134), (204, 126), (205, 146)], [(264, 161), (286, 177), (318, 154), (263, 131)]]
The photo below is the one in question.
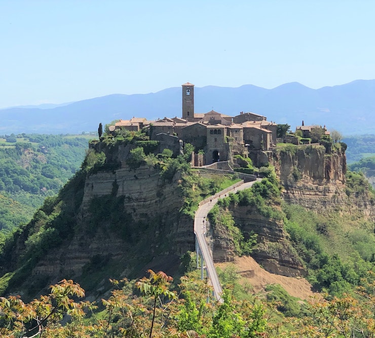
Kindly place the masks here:
[[(178, 185), (178, 173), (165, 182), (159, 170), (148, 166), (130, 170), (127, 165), (87, 175), (82, 187), (68, 183), (50, 212), (65, 219), (65, 207), (76, 209), (69, 225), (64, 225), (69, 230), (63, 234), (59, 221), (45, 225), (57, 229), (62, 240), (37, 250), (28, 241), (40, 233), (41, 221), (35, 219), (20, 231), (9, 248), (12, 259), (2, 269), (4, 274), (23, 267), (12, 275), (10, 289), (26, 288), (32, 295), (40, 285), (68, 277), (92, 292), (108, 278), (135, 278), (149, 268), (174, 273), (179, 257), (195, 248), (193, 220), (179, 212), (183, 199)], [(74, 196), (80, 197), (74, 200)], [(34, 263), (25, 263), (25, 255)]]

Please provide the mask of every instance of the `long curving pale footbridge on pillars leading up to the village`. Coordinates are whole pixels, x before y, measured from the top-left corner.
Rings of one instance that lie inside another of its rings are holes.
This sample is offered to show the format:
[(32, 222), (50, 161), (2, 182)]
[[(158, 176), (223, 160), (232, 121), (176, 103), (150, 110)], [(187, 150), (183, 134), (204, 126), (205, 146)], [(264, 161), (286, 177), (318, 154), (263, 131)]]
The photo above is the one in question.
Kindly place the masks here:
[[(239, 190), (250, 188), (256, 177), (253, 176), (252, 181), (244, 182), (243, 180), (230, 186), (227, 189), (221, 190), (215, 195), (212, 195), (199, 203), (198, 210), (195, 213), (194, 218), (194, 233), (196, 238), (196, 251), (197, 251), (197, 267), (199, 264), (199, 257), (201, 257), (201, 278), (203, 279), (204, 269), (206, 269), (207, 275), (211, 280), (213, 286), (213, 292), (218, 302), (222, 303), (221, 298), (222, 288), (220, 285), (219, 277), (217, 276), (211, 251), (206, 241), (206, 223), (207, 214), (216, 204), (219, 198), (228, 196), (229, 193), (236, 193)], [(205, 265), (203, 264), (205, 263)]]

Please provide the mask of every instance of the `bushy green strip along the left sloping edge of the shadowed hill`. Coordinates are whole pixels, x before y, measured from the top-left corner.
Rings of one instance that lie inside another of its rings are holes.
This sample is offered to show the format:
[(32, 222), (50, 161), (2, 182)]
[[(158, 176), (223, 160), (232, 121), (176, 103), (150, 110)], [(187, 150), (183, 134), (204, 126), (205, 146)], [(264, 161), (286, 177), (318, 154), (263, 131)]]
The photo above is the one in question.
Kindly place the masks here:
[[(83, 197), (85, 173), (77, 172), (56, 196), (48, 196), (32, 220), (21, 225), (3, 241), (0, 240), (0, 273), (13, 271), (0, 278), (0, 293), (21, 285), (37, 261), (52, 248), (71, 239)], [(20, 256), (14, 258), (17, 243), (22, 243)], [(33, 278), (28, 291), (40, 289), (44, 281)]]

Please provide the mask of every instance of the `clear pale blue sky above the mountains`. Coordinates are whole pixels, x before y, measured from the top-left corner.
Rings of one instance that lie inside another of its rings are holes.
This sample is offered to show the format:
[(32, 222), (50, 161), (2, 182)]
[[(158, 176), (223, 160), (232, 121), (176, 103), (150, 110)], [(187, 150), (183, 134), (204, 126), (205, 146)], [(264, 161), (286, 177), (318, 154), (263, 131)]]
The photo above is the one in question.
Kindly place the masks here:
[(0, 108), (375, 78), (375, 1), (0, 0)]

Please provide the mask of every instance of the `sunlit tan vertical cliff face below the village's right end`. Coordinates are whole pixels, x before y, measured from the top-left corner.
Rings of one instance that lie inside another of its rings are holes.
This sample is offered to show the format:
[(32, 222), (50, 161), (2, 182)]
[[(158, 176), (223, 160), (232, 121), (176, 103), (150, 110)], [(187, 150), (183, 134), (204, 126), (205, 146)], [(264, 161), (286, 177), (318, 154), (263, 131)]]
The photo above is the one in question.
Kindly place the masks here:
[(301, 146), (293, 151), (274, 151), (269, 162), (280, 178), (286, 202), (320, 214), (361, 213), (375, 221), (375, 208), (366, 192), (357, 196), (345, 192), (345, 152), (325, 154), (323, 146)]

